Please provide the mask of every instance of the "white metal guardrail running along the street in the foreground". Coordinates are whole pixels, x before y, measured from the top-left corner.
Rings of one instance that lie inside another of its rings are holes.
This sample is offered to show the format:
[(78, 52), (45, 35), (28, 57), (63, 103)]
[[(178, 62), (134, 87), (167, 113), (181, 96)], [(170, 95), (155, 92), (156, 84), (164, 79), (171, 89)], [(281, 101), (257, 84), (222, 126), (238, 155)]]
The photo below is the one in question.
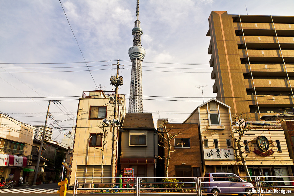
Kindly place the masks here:
[[(212, 190), (216, 189), (217, 194), (248, 194), (249, 190), (252, 194), (257, 194), (257, 196), (263, 196), (266, 193), (290, 193), (294, 192), (294, 181), (275, 181), (276, 178), (284, 178), (294, 176), (245, 176), (239, 177), (242, 179), (251, 178), (253, 187), (240, 187), (234, 186), (234, 188), (242, 188), (244, 192), (224, 192), (227, 188), (236, 183), (234, 181), (219, 181), (219, 182), (207, 182), (205, 178), (232, 178), (232, 177), (173, 177), (173, 178), (162, 178), (162, 177), (145, 177), (145, 178), (75, 178), (73, 196), (83, 195), (83, 194), (117, 194), (124, 193), (127, 195), (139, 196), (140, 194), (196, 194), (197, 196), (202, 196), (203, 194), (211, 193)], [(237, 178), (237, 177), (236, 177)], [(89, 183), (86, 182), (87, 179), (91, 179), (92, 182), (99, 183)], [(114, 183), (111, 182), (114, 179)], [(122, 180), (120, 183), (119, 180)], [(124, 179), (127, 182), (123, 182)], [(173, 179), (173, 180), (172, 180)], [(176, 181), (175, 179), (183, 180), (184, 182)], [(103, 183), (106, 182), (107, 183)], [(247, 181), (249, 182), (249, 181)], [(209, 184), (210, 183), (210, 184)], [(228, 186), (226, 186), (227, 184)], [(290, 185), (281, 185), (282, 183)], [(209, 186), (209, 185), (210, 186)], [(217, 184), (217, 185), (215, 185)], [(224, 184), (223, 186), (221, 184)], [(230, 184), (230, 186), (229, 186)], [(247, 190), (248, 189), (248, 190)], [(222, 191), (223, 190), (223, 191)], [(210, 191), (210, 192), (208, 192)], [(212, 194), (213, 196), (213, 194)]]

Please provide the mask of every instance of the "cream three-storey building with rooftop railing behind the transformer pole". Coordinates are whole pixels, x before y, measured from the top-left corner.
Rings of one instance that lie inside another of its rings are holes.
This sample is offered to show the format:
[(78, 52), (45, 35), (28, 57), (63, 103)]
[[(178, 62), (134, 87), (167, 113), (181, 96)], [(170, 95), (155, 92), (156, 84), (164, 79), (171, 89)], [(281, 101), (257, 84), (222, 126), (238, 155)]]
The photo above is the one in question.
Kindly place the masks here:
[[(82, 98), (79, 98), (77, 121), (74, 133), (72, 172), (69, 186), (73, 186), (75, 177), (101, 177), (101, 160), (103, 145), (102, 120), (107, 118), (109, 121), (114, 119), (114, 104), (109, 97), (114, 97), (114, 92), (103, 92), (102, 90), (84, 91)], [(118, 97), (119, 106), (118, 120), (121, 121), (125, 114), (124, 95)], [(111, 158), (114, 150), (115, 166), (117, 166), (117, 127), (109, 124), (105, 125), (108, 135), (104, 150), (104, 177), (111, 177)], [(110, 131), (111, 130), (111, 131)], [(112, 134), (114, 133), (114, 149), (112, 149)], [(115, 168), (116, 171), (116, 168)], [(110, 179), (108, 179), (110, 182)], [(85, 181), (80, 181), (85, 182)], [(91, 183), (101, 182), (100, 179)], [(106, 181), (104, 181), (106, 182)], [(86, 186), (86, 185), (85, 185)], [(89, 187), (89, 186), (87, 186)]]

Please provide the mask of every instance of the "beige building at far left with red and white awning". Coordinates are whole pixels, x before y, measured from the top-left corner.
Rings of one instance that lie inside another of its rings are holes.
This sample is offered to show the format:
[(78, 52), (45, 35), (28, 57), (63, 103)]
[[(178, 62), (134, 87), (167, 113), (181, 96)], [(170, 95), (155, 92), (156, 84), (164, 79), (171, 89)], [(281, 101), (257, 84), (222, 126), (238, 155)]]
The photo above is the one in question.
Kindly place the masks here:
[[(18, 182), (29, 167), (35, 127), (0, 114), (0, 175)], [(27, 164), (28, 163), (28, 164)], [(12, 174), (12, 175), (10, 175)]]

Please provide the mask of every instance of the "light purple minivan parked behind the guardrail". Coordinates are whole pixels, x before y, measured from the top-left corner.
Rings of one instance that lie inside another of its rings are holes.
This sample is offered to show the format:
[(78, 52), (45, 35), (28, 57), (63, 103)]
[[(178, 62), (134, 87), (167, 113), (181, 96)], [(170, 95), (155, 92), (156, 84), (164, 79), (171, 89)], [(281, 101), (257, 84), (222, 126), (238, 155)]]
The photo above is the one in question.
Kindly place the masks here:
[(234, 173), (205, 173), (203, 182), (204, 192), (213, 196), (218, 196), (219, 193), (245, 193), (251, 196), (254, 190), (252, 183), (242, 180)]

